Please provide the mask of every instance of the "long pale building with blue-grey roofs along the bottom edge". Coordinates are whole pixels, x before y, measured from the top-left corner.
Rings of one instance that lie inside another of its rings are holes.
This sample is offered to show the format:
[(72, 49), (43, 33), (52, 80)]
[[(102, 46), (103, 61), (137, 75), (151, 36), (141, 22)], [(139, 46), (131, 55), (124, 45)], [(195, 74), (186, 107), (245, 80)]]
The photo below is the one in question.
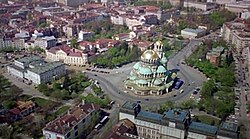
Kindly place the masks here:
[[(163, 114), (145, 111), (138, 103), (125, 102), (119, 120), (129, 119), (136, 125), (139, 137), (150, 139), (237, 139), (238, 125), (229, 130), (191, 120), (189, 111), (169, 109)], [(230, 132), (230, 134), (228, 134)], [(220, 134), (218, 134), (220, 133)]]

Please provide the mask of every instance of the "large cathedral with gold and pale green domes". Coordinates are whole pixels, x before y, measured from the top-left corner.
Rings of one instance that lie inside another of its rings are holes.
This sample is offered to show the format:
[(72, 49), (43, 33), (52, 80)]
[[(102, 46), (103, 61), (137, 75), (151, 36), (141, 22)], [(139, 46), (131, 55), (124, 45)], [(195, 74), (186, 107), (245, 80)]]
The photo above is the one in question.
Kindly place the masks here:
[(125, 87), (137, 95), (163, 95), (170, 91), (175, 73), (167, 70), (167, 58), (163, 44), (157, 41), (141, 55), (141, 61), (134, 66)]

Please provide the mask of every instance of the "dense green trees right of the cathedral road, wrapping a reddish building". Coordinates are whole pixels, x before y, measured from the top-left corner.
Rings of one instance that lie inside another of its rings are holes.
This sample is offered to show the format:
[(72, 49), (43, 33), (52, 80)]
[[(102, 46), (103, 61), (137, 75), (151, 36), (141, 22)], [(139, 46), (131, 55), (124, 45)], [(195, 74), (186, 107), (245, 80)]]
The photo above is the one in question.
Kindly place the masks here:
[(200, 46), (186, 60), (188, 64), (198, 67), (200, 71), (210, 78), (209, 81), (202, 85), (198, 108), (221, 118), (230, 114), (235, 105), (235, 96), (231, 88), (235, 83), (232, 55), (222, 58), (219, 66), (207, 61), (205, 55), (210, 49), (223, 46), (223, 44), (222, 42), (212, 42), (210, 46), (207, 44)]

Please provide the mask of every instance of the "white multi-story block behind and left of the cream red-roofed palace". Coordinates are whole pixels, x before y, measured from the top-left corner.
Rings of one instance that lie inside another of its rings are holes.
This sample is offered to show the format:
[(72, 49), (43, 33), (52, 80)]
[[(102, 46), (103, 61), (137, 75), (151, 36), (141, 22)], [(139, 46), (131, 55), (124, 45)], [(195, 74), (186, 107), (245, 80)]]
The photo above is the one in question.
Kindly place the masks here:
[(43, 49), (50, 49), (56, 46), (56, 38), (54, 36), (46, 36), (42, 38), (37, 38), (34, 42), (34, 46), (39, 46)]

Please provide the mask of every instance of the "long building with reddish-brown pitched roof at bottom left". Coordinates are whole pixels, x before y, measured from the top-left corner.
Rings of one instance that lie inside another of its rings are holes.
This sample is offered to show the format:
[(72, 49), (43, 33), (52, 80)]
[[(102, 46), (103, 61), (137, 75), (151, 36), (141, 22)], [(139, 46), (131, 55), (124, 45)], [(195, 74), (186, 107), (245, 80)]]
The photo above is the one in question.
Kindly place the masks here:
[(100, 107), (80, 104), (43, 128), (44, 139), (77, 139), (86, 136), (85, 131), (99, 118)]

